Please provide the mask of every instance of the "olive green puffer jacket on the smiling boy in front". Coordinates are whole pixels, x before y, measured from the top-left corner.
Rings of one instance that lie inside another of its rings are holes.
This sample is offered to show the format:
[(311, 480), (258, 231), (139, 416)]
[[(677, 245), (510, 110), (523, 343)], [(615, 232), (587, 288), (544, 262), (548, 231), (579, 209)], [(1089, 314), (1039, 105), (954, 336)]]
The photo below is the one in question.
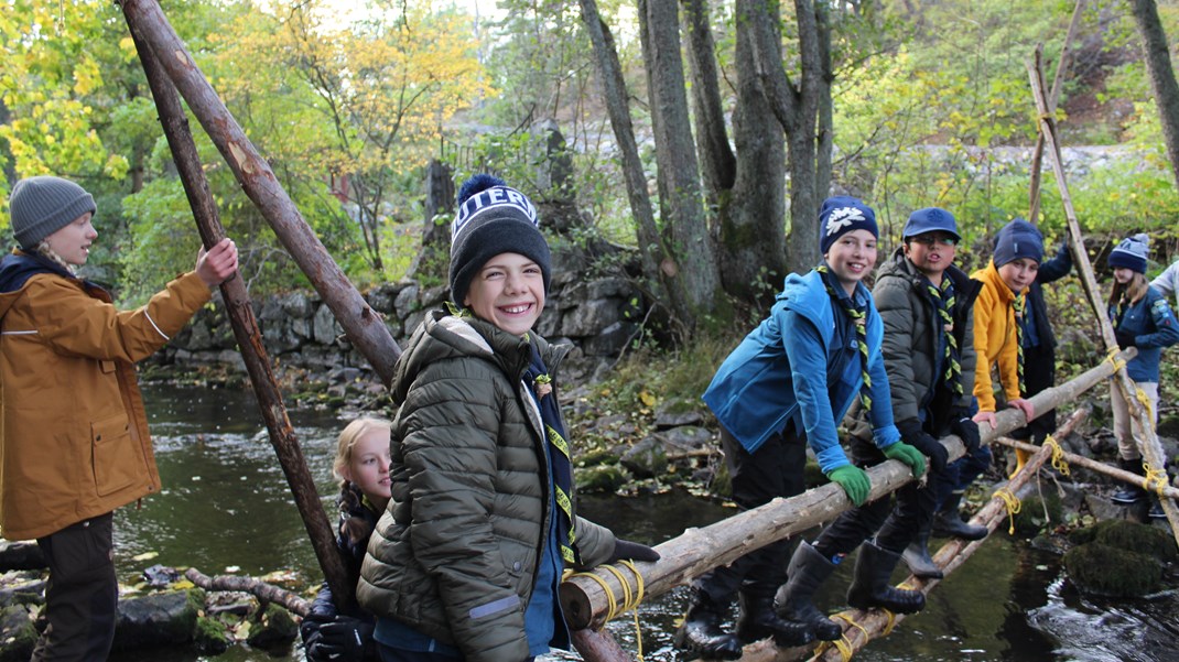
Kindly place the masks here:
[[(567, 347), (533, 339), (555, 373)], [(529, 358), (528, 340), (437, 311), (393, 383), (393, 499), (356, 597), (470, 662), (528, 657), (525, 607), (553, 517), (540, 411), (521, 380)], [(605, 562), (614, 535), (581, 518), (574, 527), (586, 565)]]

